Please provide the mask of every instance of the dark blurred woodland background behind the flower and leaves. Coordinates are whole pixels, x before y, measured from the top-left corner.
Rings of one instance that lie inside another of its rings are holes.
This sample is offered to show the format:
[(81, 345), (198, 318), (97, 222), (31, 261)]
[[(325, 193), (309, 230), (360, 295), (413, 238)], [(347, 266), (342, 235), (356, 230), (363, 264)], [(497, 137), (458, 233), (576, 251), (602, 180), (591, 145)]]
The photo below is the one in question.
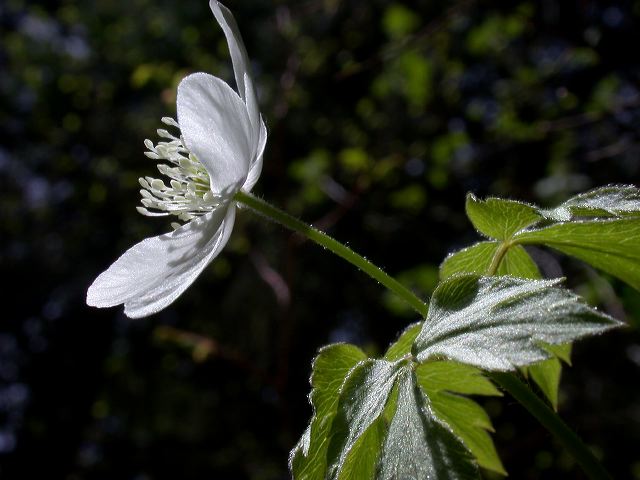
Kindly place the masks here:
[[(255, 191), (425, 298), (477, 239), (464, 195), (551, 206), (640, 184), (639, 1), (229, 1), (269, 129)], [(0, 1), (0, 477), (282, 479), (329, 342), (415, 320), (342, 260), (244, 212), (173, 305), (84, 304), (142, 238), (143, 140), (192, 71), (232, 79), (205, 0)], [(560, 413), (640, 479), (640, 294), (536, 250), (630, 327), (579, 343)], [(580, 479), (514, 400), (485, 402), (511, 478)]]

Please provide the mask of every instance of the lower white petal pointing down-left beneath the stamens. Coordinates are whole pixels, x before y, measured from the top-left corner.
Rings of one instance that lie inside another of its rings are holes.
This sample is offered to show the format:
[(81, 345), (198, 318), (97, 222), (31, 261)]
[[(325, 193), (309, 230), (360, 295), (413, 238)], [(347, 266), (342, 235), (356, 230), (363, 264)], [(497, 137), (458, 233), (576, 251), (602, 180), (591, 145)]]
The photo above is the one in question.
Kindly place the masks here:
[(234, 220), (235, 206), (231, 204), (134, 245), (96, 278), (87, 291), (87, 305), (124, 303), (131, 318), (162, 310), (220, 253)]

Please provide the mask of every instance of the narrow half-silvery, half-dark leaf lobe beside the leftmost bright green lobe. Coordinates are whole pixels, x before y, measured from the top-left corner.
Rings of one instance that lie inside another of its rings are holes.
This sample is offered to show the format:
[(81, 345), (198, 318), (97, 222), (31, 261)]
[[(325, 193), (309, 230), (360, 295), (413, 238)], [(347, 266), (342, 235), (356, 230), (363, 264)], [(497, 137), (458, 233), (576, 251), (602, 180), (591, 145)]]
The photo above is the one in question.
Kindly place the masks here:
[(369, 359), (349, 372), (340, 390), (338, 412), (331, 429), (328, 478), (340, 478), (358, 439), (384, 411), (400, 368), (400, 362)]

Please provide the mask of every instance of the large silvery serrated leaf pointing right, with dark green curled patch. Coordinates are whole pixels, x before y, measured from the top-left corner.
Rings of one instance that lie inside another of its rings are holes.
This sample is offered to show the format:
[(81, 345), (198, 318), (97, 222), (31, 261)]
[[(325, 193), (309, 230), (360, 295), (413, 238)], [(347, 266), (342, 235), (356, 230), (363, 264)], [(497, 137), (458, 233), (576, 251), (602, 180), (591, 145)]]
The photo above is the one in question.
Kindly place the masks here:
[(583, 303), (557, 280), (461, 275), (445, 280), (413, 345), (418, 361), (445, 357), (486, 370), (549, 358), (540, 346), (600, 333), (619, 322)]

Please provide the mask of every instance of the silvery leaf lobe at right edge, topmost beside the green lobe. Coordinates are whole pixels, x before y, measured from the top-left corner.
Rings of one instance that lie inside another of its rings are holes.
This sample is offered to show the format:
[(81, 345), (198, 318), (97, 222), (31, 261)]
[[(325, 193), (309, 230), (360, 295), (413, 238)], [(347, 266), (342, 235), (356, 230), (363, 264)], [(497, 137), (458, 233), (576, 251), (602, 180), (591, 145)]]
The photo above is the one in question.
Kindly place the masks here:
[(640, 215), (640, 189), (633, 185), (607, 185), (576, 195), (542, 213), (547, 218), (560, 222), (576, 217)]

